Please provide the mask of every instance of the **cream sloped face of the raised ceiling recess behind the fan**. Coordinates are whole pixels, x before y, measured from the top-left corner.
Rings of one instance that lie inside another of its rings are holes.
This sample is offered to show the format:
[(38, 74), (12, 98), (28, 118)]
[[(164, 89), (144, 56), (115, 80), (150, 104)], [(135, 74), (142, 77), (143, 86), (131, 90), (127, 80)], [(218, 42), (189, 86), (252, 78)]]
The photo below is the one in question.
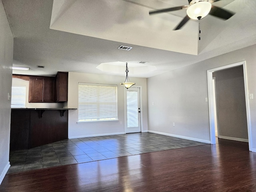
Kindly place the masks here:
[[(54, 0), (51, 29), (197, 55), (197, 22), (189, 22), (186, 26), (189, 30), (185, 28), (170, 33), (181, 18), (170, 14), (149, 16), (148, 12), (152, 10), (148, 8), (152, 7), (149, 3), (153, 4), (154, 0), (144, 0), (148, 3), (146, 7), (122, 0), (62, 2)], [(186, 15), (186, 10), (180, 12)], [(186, 34), (188, 31), (190, 35)]]

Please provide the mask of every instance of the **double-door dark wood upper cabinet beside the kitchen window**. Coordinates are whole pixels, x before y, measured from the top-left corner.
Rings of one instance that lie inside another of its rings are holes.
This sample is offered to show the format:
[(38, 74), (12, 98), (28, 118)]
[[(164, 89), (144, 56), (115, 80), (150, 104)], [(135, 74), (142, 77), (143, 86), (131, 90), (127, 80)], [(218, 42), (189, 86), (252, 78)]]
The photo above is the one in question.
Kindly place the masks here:
[(50, 77), (30, 77), (28, 102), (55, 102), (55, 79)]

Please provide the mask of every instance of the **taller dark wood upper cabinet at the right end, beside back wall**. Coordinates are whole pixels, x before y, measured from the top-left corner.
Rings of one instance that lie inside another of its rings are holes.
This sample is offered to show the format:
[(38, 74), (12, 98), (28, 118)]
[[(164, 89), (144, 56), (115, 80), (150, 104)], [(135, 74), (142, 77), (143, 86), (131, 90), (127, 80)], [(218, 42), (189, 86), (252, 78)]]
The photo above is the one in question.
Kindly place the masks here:
[(55, 102), (68, 101), (68, 73), (58, 72), (56, 74)]

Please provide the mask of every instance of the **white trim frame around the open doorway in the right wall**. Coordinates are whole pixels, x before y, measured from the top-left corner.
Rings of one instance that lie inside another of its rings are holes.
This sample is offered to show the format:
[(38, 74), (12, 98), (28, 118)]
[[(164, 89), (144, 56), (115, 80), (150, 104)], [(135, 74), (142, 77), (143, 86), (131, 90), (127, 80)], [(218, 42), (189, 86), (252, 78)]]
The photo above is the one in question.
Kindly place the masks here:
[(246, 118), (247, 118), (247, 129), (248, 129), (248, 143), (249, 150), (252, 151), (252, 127), (250, 122), (250, 110), (249, 110), (249, 92), (247, 85), (247, 72), (246, 72), (246, 61), (221, 66), (214, 69), (207, 70), (207, 87), (208, 87), (208, 110), (209, 110), (209, 124), (210, 124), (210, 143), (216, 144), (215, 140), (215, 124), (214, 124), (214, 102), (213, 102), (213, 85), (212, 85), (212, 73), (228, 68), (233, 68), (237, 66), (243, 66), (244, 72), (244, 92), (245, 92), (245, 102), (246, 102)]

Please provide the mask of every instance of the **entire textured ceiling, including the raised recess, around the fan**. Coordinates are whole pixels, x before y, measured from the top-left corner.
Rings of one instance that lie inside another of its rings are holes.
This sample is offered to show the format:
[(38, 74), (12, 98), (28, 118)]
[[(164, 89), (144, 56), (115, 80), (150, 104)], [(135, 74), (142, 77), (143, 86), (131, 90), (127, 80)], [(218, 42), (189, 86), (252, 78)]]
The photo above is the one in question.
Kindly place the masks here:
[[(236, 12), (229, 20), (206, 16), (172, 29), (185, 10), (148, 15), (149, 10), (188, 4), (187, 0), (3, 0), (14, 35), (15, 74), (54, 75), (57, 71), (125, 75), (125, 62), (156, 68), (129, 76), (150, 77), (256, 44), (256, 1), (221, 0), (214, 5)], [(133, 47), (130, 51), (117, 49)], [(103, 72), (102, 63), (123, 63), (123, 72)], [(37, 68), (45, 66), (45, 68)], [(129, 66), (128, 66), (129, 67)]]

